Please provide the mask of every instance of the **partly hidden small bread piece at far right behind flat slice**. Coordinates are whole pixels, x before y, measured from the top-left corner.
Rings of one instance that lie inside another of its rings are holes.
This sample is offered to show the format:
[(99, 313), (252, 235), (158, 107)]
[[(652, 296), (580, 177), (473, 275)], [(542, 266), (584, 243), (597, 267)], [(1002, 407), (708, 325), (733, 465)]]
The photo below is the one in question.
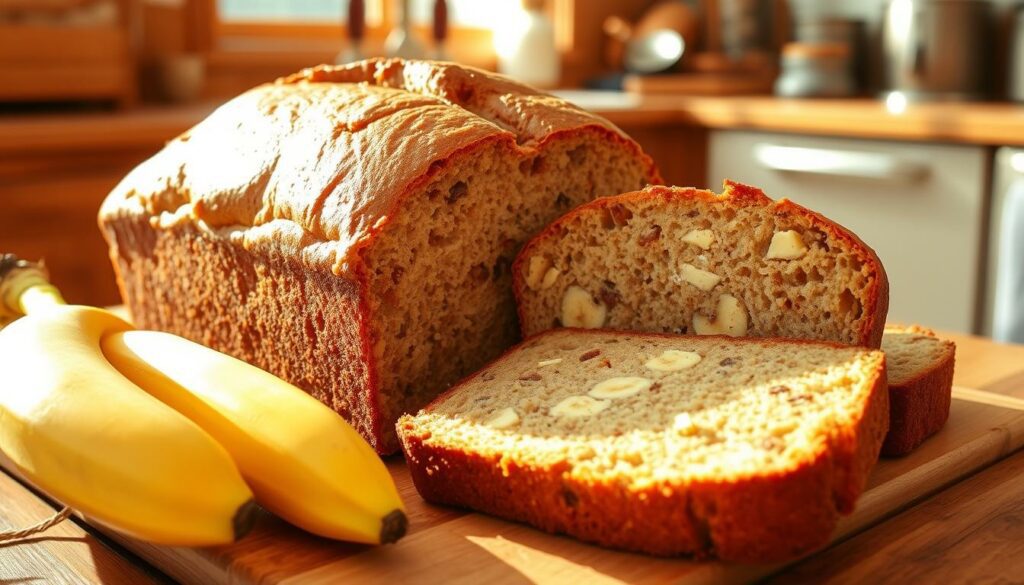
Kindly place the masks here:
[(949, 418), (956, 345), (931, 329), (889, 326), (882, 336), (889, 365), (886, 456), (905, 455), (938, 432)]

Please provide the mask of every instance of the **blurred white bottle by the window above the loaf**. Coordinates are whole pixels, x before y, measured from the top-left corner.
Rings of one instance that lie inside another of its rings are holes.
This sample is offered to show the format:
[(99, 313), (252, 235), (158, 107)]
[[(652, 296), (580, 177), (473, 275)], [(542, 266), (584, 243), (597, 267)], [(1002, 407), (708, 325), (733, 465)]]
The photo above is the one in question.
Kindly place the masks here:
[(561, 75), (555, 27), (544, 13), (544, 0), (522, 0), (522, 8), (495, 31), (498, 71), (537, 87), (555, 87)]

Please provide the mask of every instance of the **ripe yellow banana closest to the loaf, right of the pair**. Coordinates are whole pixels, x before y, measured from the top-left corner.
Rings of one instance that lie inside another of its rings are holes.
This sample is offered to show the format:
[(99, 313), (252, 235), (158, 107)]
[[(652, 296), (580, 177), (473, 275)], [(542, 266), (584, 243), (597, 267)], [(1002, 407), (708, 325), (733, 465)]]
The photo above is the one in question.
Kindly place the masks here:
[(220, 442), (263, 507), (329, 538), (383, 544), (404, 534), (403, 505), (383, 462), (306, 392), (167, 333), (117, 332), (102, 348), (129, 379)]

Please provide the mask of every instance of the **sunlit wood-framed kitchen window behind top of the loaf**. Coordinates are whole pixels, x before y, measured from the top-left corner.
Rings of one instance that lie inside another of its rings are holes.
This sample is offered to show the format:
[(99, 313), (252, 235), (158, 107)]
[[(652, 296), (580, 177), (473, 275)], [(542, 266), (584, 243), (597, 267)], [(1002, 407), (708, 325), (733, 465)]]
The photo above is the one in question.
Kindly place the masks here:
[[(182, 0), (187, 50), (206, 60), (205, 93), (230, 96), (306, 67), (335, 62), (348, 46), (348, 0)], [(568, 66), (583, 53), (574, 47), (578, 0), (549, 0), (556, 40)], [(362, 43), (368, 56), (385, 54), (388, 33), (398, 25), (399, 0), (366, 0)], [(410, 0), (413, 34), (437, 58), (431, 40), (434, 0)], [(442, 58), (496, 70), (494, 31), (521, 10), (521, 0), (447, 0), (449, 34)], [(588, 25), (587, 30), (593, 27)], [(591, 54), (589, 51), (587, 54)]]

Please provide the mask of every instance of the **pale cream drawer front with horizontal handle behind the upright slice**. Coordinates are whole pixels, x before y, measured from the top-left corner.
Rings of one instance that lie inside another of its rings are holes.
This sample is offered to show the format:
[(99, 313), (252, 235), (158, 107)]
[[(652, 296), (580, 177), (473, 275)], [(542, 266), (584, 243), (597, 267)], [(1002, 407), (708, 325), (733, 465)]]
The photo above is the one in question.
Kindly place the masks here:
[(743, 131), (712, 134), (709, 179), (787, 197), (849, 227), (889, 276), (889, 321), (977, 329), (983, 147)]

